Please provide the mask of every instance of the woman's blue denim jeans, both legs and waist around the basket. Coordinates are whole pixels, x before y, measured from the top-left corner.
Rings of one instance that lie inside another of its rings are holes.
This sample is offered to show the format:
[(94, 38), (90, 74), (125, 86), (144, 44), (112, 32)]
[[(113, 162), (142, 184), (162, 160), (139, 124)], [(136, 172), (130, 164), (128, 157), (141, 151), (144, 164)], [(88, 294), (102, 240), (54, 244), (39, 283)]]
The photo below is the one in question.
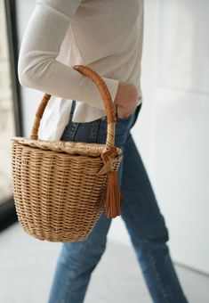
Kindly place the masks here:
[[(75, 104), (74, 104), (75, 105)], [(130, 129), (140, 107), (129, 118), (117, 118), (116, 145), (123, 150), (118, 178), (123, 193), (121, 217), (125, 221), (150, 296), (156, 303), (185, 303), (181, 285), (173, 268), (165, 219), (149, 182), (149, 176), (133, 141)], [(61, 140), (105, 143), (107, 119), (87, 123), (71, 121)], [(103, 254), (111, 219), (100, 216), (92, 233), (82, 242), (63, 243), (58, 258), (49, 303), (82, 303), (91, 274)], [(110, 274), (110, 272), (109, 272)], [(108, 302), (107, 302), (108, 303)]]

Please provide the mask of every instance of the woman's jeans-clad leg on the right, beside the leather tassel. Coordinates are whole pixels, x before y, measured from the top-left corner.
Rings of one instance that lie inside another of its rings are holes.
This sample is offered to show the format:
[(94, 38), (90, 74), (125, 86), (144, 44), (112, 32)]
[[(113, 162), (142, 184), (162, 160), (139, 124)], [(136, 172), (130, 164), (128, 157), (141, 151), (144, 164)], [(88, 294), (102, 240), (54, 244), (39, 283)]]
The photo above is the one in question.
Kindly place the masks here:
[(165, 219), (149, 182), (139, 151), (129, 135), (125, 143), (121, 188), (122, 218), (155, 303), (185, 303), (166, 242)]

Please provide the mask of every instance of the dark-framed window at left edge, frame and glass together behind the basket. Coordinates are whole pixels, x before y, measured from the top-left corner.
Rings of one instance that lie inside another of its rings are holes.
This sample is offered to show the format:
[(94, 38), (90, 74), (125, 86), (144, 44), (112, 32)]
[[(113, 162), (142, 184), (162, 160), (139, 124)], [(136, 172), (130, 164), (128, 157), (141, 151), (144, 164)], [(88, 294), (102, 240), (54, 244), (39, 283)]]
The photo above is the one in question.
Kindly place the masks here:
[(21, 135), (15, 2), (0, 0), (0, 229), (17, 219), (12, 199), (11, 138)]

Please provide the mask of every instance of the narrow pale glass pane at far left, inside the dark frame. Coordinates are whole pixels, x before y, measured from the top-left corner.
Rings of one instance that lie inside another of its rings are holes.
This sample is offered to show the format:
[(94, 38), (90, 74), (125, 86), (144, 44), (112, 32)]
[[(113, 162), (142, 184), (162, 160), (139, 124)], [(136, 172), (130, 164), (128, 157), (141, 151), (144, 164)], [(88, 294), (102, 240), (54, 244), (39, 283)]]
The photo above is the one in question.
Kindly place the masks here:
[(12, 197), (11, 138), (14, 135), (12, 81), (4, 1), (0, 0), (0, 204)]

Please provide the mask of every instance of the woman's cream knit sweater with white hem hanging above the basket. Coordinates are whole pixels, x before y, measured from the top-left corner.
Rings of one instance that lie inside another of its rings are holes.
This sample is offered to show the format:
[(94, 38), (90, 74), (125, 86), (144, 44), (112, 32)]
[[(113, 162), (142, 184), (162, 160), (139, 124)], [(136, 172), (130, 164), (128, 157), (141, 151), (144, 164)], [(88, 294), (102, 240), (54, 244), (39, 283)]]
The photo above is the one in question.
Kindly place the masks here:
[(68, 124), (105, 116), (98, 88), (73, 70), (84, 64), (100, 74), (115, 100), (119, 81), (141, 94), (143, 0), (36, 0), (20, 45), (21, 86), (52, 94), (39, 137), (59, 140)]

